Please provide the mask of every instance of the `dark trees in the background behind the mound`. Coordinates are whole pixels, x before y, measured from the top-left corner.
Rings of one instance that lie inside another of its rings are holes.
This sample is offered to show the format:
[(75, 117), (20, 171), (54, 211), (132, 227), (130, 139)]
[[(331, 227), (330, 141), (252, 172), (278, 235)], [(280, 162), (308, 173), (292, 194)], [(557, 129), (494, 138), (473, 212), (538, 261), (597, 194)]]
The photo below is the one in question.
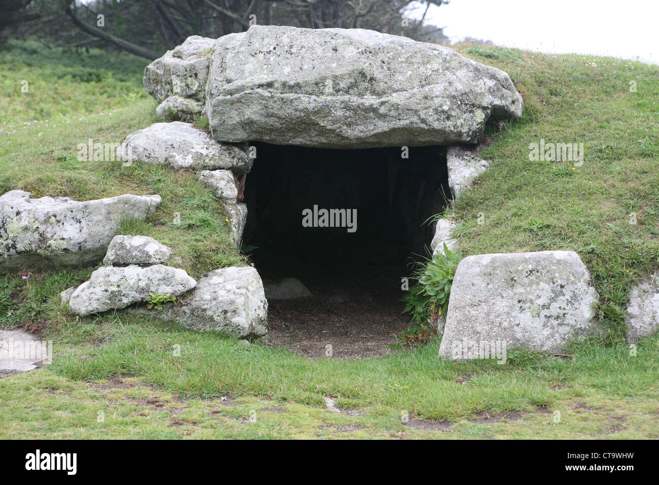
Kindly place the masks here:
[[(188, 36), (217, 38), (252, 24), (306, 28), (368, 28), (416, 40), (445, 40), (424, 24), (431, 5), (446, 0), (6, 0), (5, 36), (37, 36), (53, 46), (124, 49), (159, 57)], [(405, 18), (416, 5), (419, 20)], [(3, 32), (3, 23), (0, 23)]]

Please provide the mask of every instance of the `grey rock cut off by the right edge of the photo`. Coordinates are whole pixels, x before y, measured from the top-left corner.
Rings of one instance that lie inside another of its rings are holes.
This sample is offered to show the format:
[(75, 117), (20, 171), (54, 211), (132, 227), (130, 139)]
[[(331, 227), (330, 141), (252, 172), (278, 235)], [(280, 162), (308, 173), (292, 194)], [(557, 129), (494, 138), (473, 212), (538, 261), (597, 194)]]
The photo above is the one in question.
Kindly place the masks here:
[(634, 286), (627, 304), (627, 343), (659, 331), (659, 272), (650, 281)]

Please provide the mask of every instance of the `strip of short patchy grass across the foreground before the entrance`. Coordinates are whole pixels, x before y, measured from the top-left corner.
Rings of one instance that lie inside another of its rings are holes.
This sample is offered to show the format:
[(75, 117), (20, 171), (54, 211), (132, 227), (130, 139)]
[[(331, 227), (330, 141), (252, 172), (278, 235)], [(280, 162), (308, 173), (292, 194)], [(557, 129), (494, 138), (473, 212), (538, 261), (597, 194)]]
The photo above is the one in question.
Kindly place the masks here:
[[(59, 330), (51, 366), (0, 379), (0, 436), (658, 437), (656, 336), (637, 356), (581, 344), (571, 359), (511, 352), (498, 365), (439, 360), (438, 342), (387, 358), (314, 361), (118, 313), (67, 319)], [(347, 412), (324, 409), (324, 397)], [(511, 411), (523, 419), (478, 420)], [(405, 413), (451, 426), (415, 430)]]

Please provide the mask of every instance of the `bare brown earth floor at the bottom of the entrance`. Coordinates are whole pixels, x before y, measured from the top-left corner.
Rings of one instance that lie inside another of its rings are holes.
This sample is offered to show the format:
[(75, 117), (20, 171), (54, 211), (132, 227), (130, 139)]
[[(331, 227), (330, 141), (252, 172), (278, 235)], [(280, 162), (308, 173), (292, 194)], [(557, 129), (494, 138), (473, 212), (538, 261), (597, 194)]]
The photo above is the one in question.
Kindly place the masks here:
[[(353, 269), (350, 274), (300, 276), (314, 294), (268, 302), (268, 346), (282, 346), (308, 358), (355, 359), (391, 354), (391, 335), (409, 328), (401, 315), (400, 278), (405, 269)], [(360, 278), (354, 278), (361, 273)], [(296, 275), (297, 277), (297, 275)]]

